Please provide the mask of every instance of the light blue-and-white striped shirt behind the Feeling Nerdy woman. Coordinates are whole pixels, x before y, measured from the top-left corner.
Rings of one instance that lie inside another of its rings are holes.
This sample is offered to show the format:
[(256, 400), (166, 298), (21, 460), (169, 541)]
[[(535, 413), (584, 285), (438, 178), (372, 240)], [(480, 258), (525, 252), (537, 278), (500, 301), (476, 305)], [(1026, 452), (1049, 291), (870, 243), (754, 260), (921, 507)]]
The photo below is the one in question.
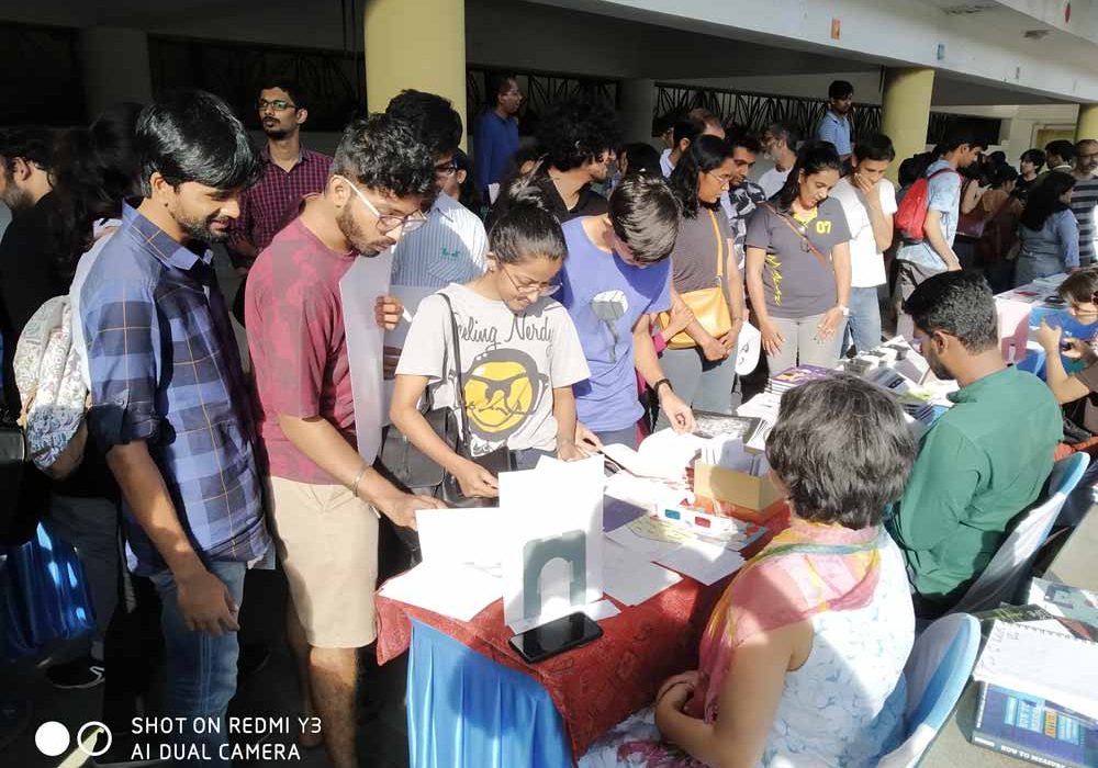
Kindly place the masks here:
[(393, 247), (393, 285), (444, 289), (484, 274), (488, 235), (472, 211), (439, 194), (427, 223)]

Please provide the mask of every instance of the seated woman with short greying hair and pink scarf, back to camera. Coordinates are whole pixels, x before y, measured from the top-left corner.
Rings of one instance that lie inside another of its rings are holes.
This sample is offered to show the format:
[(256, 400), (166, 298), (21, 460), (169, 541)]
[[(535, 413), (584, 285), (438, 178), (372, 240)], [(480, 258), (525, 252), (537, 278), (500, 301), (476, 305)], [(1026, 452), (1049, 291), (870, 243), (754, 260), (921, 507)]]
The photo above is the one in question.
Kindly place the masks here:
[(915, 615), (881, 513), (915, 460), (899, 405), (837, 375), (782, 397), (766, 442), (791, 527), (709, 617), (701, 669), (604, 735), (580, 768), (874, 766), (898, 745)]

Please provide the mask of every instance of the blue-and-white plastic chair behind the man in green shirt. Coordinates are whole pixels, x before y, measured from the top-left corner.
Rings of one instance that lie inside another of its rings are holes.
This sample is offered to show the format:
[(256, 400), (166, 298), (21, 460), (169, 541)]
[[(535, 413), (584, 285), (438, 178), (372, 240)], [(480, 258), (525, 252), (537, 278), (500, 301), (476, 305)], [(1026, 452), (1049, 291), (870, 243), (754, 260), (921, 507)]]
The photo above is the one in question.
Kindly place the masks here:
[(1086, 453), (1073, 453), (1053, 465), (1045, 492), (1019, 516), (1013, 530), (951, 613), (977, 613), (1013, 601), (1038, 550), (1089, 463)]

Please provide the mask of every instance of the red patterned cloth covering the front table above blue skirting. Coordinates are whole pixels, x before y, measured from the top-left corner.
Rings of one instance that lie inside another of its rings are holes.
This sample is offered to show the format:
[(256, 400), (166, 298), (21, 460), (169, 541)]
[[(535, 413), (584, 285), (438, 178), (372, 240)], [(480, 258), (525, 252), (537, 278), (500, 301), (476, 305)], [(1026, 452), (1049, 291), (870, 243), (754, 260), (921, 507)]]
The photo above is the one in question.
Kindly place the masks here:
[[(743, 555), (758, 553), (787, 524), (787, 511), (768, 520), (770, 532)], [(427, 624), (496, 664), (522, 671), (548, 691), (560, 713), (574, 758), (603, 733), (651, 704), (661, 682), (697, 667), (698, 642), (714, 606), (735, 574), (705, 586), (683, 579), (639, 606), (626, 606), (609, 596), (620, 613), (600, 621), (603, 636), (590, 645), (529, 665), (511, 647), (513, 632), (503, 620), (503, 600), (496, 600), (470, 622), (377, 596), (378, 663), (408, 650), (412, 620)], [(416, 691), (410, 676), (408, 709)], [(410, 734), (410, 739), (412, 735)]]

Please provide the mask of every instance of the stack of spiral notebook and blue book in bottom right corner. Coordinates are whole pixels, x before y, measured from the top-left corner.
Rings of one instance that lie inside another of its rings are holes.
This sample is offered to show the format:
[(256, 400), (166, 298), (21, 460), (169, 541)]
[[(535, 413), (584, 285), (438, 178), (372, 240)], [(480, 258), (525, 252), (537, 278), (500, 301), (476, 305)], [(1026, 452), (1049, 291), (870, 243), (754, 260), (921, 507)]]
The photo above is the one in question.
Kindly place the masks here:
[[(1030, 605), (988, 612), (973, 677), (979, 703), (972, 742), (1038, 765), (1098, 766), (1098, 628), (1095, 595), (1033, 579)], [(1074, 615), (1073, 615), (1074, 614)]]

